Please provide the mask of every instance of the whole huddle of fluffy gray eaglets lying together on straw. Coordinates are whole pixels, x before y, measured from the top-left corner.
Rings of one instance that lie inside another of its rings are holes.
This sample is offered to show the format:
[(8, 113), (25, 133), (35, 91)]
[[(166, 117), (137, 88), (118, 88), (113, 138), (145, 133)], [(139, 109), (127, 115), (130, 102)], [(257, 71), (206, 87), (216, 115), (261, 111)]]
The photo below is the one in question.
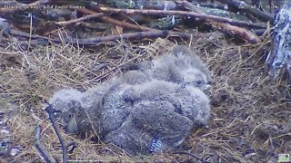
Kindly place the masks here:
[(211, 79), (196, 55), (176, 46), (139, 66), (85, 92), (55, 92), (50, 102), (62, 110), (56, 116), (66, 131), (96, 131), (135, 155), (175, 149), (192, 129), (206, 125), (210, 107), (203, 90)]

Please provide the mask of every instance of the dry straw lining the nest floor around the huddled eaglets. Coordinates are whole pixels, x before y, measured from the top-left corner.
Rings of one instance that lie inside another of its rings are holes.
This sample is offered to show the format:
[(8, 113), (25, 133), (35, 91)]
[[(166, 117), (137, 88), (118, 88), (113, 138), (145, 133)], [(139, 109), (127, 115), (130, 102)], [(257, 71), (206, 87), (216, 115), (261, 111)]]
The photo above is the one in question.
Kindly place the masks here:
[[(43, 99), (54, 91), (74, 87), (85, 91), (126, 71), (133, 62), (150, 60), (170, 50), (174, 43), (157, 39), (154, 43), (114, 43), (88, 50), (70, 44), (52, 44), (23, 51), (21, 45), (1, 47), (1, 108), (14, 110), (8, 126), (21, 153), (12, 160), (39, 161), (34, 147), (35, 125), (45, 131), (42, 143), (61, 160), (61, 148), (49, 121)], [(213, 72), (210, 92), (212, 117), (208, 129), (198, 129), (186, 139), (183, 149), (213, 161), (267, 161), (278, 153), (291, 151), (290, 105), (285, 101), (284, 82), (266, 82), (264, 48), (266, 44), (235, 45), (218, 33), (194, 36), (188, 43)], [(281, 88), (281, 89), (278, 89)], [(11, 101), (11, 102), (8, 102)], [(126, 156), (125, 152), (89, 139), (63, 132), (66, 141), (78, 148), (70, 160), (96, 161), (187, 161), (187, 155), (156, 154)]]

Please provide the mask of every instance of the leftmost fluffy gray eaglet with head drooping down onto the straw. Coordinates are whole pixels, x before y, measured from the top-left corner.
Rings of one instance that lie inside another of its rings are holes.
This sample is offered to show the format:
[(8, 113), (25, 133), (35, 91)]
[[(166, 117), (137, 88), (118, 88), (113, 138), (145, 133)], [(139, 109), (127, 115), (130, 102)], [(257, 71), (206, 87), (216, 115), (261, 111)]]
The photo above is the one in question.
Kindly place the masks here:
[[(126, 102), (119, 99), (119, 94), (125, 90), (125, 84), (134, 85), (146, 81), (149, 79), (143, 72), (125, 72), (122, 76), (85, 92), (75, 89), (56, 91), (50, 103), (55, 109), (61, 110), (56, 113), (56, 117), (61, 118), (67, 132), (85, 136), (96, 131), (102, 136), (119, 127), (118, 124), (125, 116)], [(102, 116), (103, 114), (106, 116)]]

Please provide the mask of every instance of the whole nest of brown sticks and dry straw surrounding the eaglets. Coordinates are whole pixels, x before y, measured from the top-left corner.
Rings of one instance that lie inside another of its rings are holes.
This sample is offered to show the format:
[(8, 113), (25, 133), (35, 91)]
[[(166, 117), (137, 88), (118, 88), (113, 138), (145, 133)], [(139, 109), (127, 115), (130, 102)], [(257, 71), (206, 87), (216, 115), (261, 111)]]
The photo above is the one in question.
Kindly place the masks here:
[[(10, 142), (5, 151), (0, 149), (0, 162), (44, 160), (35, 149), (36, 126), (42, 130), (41, 144), (47, 153), (62, 161), (63, 150), (47, 119), (45, 100), (65, 87), (85, 91), (126, 72), (134, 63), (169, 52), (177, 42), (195, 50), (213, 74), (209, 128), (194, 130), (178, 149), (185, 152), (135, 157), (126, 155), (123, 149), (68, 135), (61, 129), (65, 142), (77, 144), (67, 156), (69, 161), (273, 162), (278, 154), (291, 151), (289, 83), (283, 74), (270, 80), (265, 64), (266, 50), (270, 52), (272, 46), (271, 30), (266, 22), (274, 22), (274, 11), (254, 9), (244, 4), (249, 4), (247, 0), (239, 3), (246, 7), (237, 6), (237, 0), (217, 0), (216, 4), (197, 1), (206, 10), (187, 1), (139, 1), (149, 6), (145, 9), (125, 8), (128, 6), (122, 0), (117, 3), (121, 6), (111, 0), (100, 1), (101, 5), (91, 1), (57, 2), (0, 3), (0, 6), (15, 6), (0, 7), (1, 16), (7, 20), (0, 20), (4, 34), (0, 38), (0, 129), (3, 127), (10, 133), (0, 135), (0, 142), (5, 139)], [(153, 2), (158, 10), (152, 10), (156, 9), (151, 8)], [(160, 6), (155, 2), (161, 2)], [(79, 3), (85, 7), (51, 8), (47, 10), (50, 12), (44, 12), (43, 7), (78, 6)], [(173, 10), (165, 8), (163, 3), (172, 4), (169, 7)], [(238, 9), (245, 13), (253, 23), (238, 20), (238, 15), (234, 19), (230, 18), (232, 14), (224, 17), (225, 5), (231, 6), (231, 12)], [(55, 14), (58, 16), (54, 17)], [(136, 23), (135, 14), (146, 15), (151, 21), (156, 18), (157, 22), (164, 18), (171, 21), (166, 21), (170, 22), (166, 27), (157, 28), (160, 24)], [(216, 32), (200, 33), (191, 25), (190, 28), (177, 26), (179, 19), (173, 21), (175, 16), (170, 15), (179, 15), (182, 22), (195, 22), (199, 30), (203, 24), (204, 31), (209, 31), (207, 28), (211, 26)], [(261, 34), (262, 37), (257, 36)], [(91, 35), (94, 36), (89, 38)], [(234, 42), (230, 35), (240, 38), (240, 43)], [(153, 39), (157, 37), (163, 38)], [(129, 42), (130, 39), (135, 41)], [(11, 155), (12, 149), (19, 151)]]

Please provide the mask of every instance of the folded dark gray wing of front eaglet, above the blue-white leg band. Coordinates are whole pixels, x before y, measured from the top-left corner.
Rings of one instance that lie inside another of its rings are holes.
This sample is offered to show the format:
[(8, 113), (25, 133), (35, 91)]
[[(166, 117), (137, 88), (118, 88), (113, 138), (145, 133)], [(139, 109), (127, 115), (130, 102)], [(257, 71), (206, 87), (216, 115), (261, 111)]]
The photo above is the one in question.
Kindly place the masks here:
[(110, 132), (105, 142), (113, 143), (130, 154), (149, 154), (153, 139), (160, 139), (158, 150), (176, 148), (186, 138), (193, 122), (175, 112), (168, 101), (138, 102), (119, 129)]

